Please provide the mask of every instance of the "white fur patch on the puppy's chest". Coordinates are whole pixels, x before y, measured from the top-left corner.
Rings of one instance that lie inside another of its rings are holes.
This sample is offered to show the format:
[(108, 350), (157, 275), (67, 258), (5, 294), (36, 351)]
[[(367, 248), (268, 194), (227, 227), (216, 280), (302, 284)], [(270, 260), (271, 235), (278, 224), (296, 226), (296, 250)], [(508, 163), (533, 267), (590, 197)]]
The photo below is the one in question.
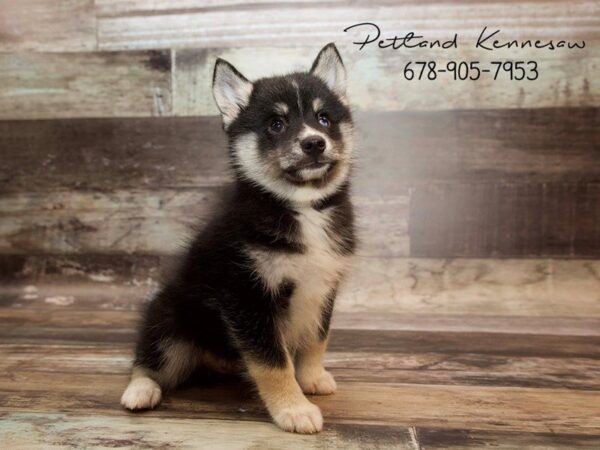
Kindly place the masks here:
[[(305, 251), (249, 251), (255, 271), (266, 289), (276, 292), (281, 283), (294, 283), (287, 320), (280, 324), (286, 345), (301, 347), (319, 332), (324, 302), (348, 267), (349, 257), (335, 251), (335, 230), (330, 228), (331, 212), (313, 208), (298, 210), (297, 220)], [(328, 232), (329, 231), (329, 232)]]

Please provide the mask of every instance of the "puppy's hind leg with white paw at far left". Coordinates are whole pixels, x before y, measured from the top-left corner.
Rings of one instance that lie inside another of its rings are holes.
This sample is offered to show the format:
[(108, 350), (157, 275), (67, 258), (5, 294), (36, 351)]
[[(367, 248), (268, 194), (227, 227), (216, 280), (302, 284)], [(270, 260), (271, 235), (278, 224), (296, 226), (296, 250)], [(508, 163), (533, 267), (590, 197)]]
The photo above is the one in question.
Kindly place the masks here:
[[(131, 381), (121, 396), (121, 405), (130, 410), (152, 409), (161, 400), (162, 390), (174, 388), (194, 370), (198, 350), (189, 342), (167, 340), (160, 344), (156, 370), (134, 365)], [(140, 360), (139, 355), (136, 358)]]

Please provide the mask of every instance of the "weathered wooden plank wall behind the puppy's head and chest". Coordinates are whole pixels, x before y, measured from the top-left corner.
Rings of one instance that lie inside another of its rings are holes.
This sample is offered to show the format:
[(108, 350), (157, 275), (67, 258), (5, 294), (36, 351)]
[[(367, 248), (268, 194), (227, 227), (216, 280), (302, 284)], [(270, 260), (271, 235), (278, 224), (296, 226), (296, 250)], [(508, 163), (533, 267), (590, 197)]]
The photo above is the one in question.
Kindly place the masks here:
[[(360, 51), (342, 30), (365, 20), (457, 32), (459, 48)], [(483, 26), (586, 47), (483, 52)], [(172, 253), (164, 236), (205, 220), (229, 180), (214, 59), (255, 78), (330, 40), (357, 117), (363, 256), (600, 254), (595, 1), (25, 0), (1, 5), (0, 30), (3, 255)], [(419, 59), (535, 59), (541, 76), (404, 80)]]

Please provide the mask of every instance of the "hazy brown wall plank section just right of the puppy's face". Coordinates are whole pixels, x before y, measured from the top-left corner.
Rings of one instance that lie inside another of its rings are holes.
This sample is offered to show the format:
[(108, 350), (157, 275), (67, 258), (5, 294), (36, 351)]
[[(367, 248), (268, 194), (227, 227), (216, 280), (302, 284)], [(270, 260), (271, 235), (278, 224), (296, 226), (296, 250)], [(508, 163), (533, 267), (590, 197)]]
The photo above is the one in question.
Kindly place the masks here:
[(600, 181), (598, 108), (369, 114), (357, 130), (364, 189)]

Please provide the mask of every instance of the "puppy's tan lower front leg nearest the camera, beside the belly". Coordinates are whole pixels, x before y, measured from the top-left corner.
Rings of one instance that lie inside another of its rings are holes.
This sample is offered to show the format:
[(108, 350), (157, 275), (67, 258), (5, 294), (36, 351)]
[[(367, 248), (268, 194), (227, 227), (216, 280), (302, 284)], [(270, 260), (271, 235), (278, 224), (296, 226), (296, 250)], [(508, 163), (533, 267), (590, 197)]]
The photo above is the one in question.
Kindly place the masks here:
[(248, 372), (275, 423), (285, 431), (316, 433), (323, 428), (323, 416), (317, 405), (309, 402), (294, 377), (291, 361), (285, 368), (248, 362)]

